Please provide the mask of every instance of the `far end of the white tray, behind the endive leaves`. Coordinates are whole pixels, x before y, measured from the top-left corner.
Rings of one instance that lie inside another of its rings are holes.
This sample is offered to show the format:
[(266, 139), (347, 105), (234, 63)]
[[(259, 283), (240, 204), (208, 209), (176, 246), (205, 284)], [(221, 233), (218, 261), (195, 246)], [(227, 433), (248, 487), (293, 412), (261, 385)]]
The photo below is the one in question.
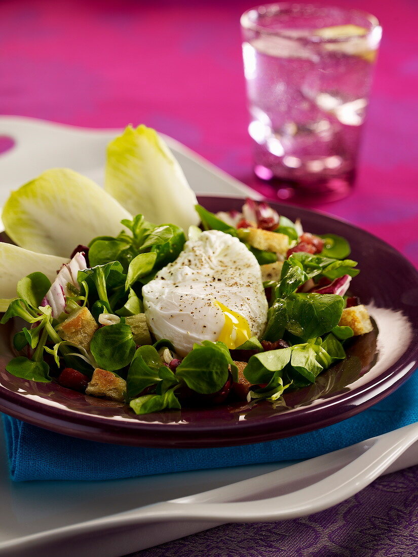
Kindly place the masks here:
[[(120, 133), (120, 129), (76, 128), (35, 118), (0, 116), (0, 137), (14, 141), (10, 150), (0, 153), (0, 207), (12, 189), (48, 168), (71, 168), (103, 186), (106, 145)], [(253, 189), (175, 139), (163, 137), (197, 194), (261, 199)]]

